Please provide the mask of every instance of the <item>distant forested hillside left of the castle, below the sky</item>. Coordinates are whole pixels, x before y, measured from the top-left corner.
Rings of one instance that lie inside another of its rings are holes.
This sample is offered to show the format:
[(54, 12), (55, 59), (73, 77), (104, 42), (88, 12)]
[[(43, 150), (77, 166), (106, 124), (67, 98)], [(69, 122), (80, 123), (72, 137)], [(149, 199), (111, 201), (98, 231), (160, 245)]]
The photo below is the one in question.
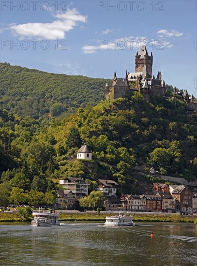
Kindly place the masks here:
[(0, 104), (19, 116), (32, 118), (75, 112), (104, 98), (106, 80), (46, 73), (0, 63)]

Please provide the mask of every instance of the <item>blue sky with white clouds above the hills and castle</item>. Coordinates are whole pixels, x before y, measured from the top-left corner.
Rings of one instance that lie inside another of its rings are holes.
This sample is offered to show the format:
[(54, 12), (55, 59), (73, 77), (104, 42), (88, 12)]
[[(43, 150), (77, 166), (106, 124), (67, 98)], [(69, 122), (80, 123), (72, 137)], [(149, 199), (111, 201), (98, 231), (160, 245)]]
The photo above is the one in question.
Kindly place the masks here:
[(146, 43), (167, 84), (197, 97), (197, 1), (1, 0), (0, 61), (111, 79)]

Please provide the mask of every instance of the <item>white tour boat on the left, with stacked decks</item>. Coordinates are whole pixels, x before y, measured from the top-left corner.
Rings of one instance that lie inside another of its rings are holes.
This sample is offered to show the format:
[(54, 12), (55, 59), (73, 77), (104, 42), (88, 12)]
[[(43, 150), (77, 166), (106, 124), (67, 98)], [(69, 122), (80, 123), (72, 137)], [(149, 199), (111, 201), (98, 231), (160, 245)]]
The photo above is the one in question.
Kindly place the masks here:
[(33, 210), (34, 219), (31, 221), (32, 226), (59, 226), (59, 214), (55, 211)]

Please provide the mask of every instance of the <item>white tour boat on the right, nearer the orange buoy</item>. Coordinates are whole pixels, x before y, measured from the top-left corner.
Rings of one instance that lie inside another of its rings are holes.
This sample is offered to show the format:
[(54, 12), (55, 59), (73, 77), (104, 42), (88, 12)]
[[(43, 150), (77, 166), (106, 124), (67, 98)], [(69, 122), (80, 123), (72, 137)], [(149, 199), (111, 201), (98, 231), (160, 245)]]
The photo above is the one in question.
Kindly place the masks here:
[(132, 216), (110, 214), (106, 217), (105, 226), (135, 226), (135, 223), (132, 221)]

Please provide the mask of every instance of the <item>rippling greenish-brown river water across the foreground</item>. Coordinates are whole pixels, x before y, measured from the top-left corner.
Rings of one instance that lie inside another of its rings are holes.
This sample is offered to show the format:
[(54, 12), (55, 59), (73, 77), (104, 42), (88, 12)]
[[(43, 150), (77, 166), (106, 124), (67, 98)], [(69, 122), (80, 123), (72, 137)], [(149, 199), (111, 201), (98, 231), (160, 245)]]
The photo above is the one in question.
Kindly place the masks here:
[(193, 223), (171, 222), (137, 222), (135, 227), (0, 223), (0, 265), (197, 266), (197, 229)]

